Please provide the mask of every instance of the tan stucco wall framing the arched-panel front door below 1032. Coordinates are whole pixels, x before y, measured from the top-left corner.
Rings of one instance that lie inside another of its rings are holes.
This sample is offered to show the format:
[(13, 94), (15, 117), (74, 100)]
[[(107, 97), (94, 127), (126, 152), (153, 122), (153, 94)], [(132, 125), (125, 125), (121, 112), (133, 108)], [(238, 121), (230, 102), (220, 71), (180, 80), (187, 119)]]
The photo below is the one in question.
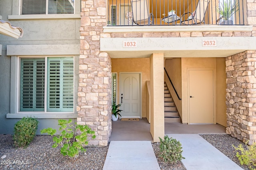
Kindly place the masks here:
[(111, 59), (112, 72), (117, 72), (117, 101), (119, 102), (119, 73), (141, 72), (142, 73), (142, 117), (146, 117), (146, 81), (150, 80), (150, 59)]

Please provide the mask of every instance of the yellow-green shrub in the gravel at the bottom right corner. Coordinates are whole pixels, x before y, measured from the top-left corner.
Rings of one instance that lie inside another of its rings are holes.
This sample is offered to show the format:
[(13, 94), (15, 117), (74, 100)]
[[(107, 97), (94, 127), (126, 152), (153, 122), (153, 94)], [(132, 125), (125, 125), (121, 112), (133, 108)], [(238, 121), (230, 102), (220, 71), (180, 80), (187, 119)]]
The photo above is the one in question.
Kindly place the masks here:
[(240, 161), (240, 164), (249, 166), (250, 170), (256, 170), (256, 143), (252, 145), (247, 145), (248, 141), (245, 143), (246, 147), (243, 147), (242, 144), (238, 145), (238, 147), (234, 147), (236, 152), (236, 157)]

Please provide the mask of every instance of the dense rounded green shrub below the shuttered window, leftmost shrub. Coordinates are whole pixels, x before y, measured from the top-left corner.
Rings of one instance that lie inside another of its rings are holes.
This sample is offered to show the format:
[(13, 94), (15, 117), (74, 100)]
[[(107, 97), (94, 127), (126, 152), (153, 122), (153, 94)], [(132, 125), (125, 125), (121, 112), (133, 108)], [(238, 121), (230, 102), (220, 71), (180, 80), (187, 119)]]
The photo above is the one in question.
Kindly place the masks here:
[(14, 125), (14, 146), (27, 147), (34, 139), (39, 121), (32, 117), (23, 117)]

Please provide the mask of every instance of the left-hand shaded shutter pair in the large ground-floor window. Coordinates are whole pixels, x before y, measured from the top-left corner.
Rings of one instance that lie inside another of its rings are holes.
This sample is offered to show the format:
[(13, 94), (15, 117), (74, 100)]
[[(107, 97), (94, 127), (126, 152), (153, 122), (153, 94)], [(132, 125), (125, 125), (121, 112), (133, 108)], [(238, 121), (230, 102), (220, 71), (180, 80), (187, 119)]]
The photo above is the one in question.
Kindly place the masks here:
[(20, 111), (44, 111), (44, 59), (21, 59)]

